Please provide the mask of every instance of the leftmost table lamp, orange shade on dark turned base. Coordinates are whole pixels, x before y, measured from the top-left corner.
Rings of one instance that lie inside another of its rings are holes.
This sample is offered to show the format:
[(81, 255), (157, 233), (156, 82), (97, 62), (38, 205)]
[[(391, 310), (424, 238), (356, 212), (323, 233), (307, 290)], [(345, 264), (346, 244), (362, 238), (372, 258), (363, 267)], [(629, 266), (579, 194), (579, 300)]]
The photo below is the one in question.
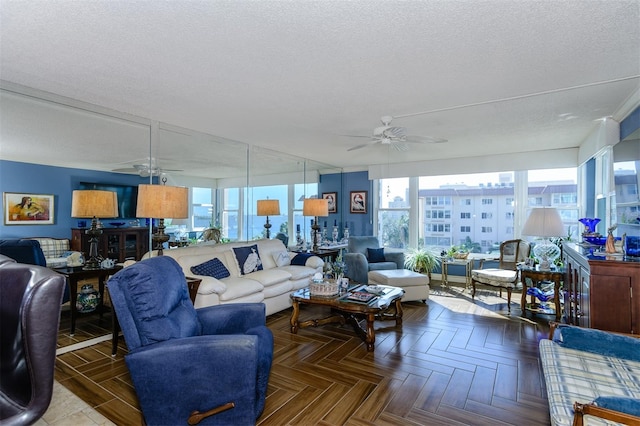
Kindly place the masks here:
[(118, 217), (118, 195), (113, 191), (75, 190), (71, 197), (71, 217), (91, 218), (89, 235), (89, 260), (83, 269), (100, 269), (98, 239), (102, 229), (98, 228), (98, 218)]

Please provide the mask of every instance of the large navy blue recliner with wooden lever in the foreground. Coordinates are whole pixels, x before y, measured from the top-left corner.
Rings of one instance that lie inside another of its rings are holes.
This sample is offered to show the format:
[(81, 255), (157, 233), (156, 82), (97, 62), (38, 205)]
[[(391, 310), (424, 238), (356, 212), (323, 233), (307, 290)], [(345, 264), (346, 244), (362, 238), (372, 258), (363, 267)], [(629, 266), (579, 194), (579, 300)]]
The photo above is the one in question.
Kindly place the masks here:
[(162, 256), (107, 286), (146, 424), (256, 423), (273, 359), (262, 303), (194, 309), (182, 269)]

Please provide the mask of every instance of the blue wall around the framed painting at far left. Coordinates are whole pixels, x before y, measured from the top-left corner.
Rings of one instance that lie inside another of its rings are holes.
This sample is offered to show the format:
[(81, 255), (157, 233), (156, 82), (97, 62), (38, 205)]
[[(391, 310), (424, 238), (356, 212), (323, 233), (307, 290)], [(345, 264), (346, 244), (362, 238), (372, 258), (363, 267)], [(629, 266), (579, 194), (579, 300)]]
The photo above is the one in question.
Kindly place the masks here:
[(20, 192), (54, 196), (53, 225), (5, 225), (3, 216), (0, 224), (0, 238), (71, 238), (71, 228), (78, 224), (78, 219), (71, 218), (71, 193), (74, 189), (78, 189), (80, 182), (138, 185), (148, 183), (149, 179), (122, 173), (0, 160), (0, 190), (3, 193)]

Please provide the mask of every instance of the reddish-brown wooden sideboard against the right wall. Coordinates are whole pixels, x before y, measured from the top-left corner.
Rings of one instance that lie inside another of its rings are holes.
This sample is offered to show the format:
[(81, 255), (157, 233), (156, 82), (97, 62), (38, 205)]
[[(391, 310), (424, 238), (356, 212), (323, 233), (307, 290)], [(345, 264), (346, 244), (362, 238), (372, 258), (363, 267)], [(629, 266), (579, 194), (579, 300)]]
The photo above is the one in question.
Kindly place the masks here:
[(640, 259), (607, 258), (593, 255), (578, 244), (565, 243), (563, 261), (566, 322), (640, 333)]

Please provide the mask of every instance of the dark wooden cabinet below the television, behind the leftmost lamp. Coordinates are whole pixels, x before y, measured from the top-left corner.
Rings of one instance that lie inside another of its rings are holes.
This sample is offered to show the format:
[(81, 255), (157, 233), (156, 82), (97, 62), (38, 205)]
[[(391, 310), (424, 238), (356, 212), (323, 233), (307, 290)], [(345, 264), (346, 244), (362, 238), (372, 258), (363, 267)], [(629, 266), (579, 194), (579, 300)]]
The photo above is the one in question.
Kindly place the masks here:
[[(86, 229), (71, 229), (71, 249), (89, 254)], [(149, 228), (103, 228), (98, 242), (98, 254), (117, 262), (140, 260), (149, 251)]]

